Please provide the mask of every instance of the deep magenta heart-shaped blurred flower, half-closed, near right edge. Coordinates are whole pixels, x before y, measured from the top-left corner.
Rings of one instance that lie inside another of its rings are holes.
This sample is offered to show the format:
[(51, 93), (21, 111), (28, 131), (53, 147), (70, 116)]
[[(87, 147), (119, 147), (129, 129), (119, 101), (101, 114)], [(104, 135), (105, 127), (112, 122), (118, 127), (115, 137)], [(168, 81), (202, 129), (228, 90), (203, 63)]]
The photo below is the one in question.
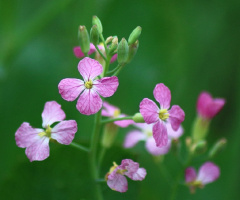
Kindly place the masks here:
[(198, 97), (197, 111), (202, 118), (212, 119), (223, 108), (224, 104), (224, 99), (213, 99), (209, 93), (202, 92)]

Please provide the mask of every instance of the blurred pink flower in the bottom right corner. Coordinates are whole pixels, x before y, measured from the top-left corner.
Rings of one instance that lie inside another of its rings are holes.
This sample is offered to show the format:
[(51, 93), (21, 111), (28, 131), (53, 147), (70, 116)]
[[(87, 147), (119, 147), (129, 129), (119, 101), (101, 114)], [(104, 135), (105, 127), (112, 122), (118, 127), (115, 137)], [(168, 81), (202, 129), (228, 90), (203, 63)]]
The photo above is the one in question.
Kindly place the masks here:
[(220, 170), (212, 162), (204, 163), (197, 174), (193, 167), (188, 167), (185, 170), (185, 181), (189, 185), (191, 192), (194, 192), (197, 187), (203, 188), (204, 185), (218, 179)]

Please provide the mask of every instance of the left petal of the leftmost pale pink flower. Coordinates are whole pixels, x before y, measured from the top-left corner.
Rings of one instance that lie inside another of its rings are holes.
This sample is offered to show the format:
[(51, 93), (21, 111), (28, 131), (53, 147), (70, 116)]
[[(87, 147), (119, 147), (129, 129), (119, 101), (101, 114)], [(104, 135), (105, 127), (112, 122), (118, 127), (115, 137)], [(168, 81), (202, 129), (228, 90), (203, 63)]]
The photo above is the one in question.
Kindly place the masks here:
[(39, 140), (38, 134), (43, 131), (43, 129), (32, 128), (27, 122), (22, 123), (15, 133), (17, 146), (21, 148), (31, 146), (33, 143)]

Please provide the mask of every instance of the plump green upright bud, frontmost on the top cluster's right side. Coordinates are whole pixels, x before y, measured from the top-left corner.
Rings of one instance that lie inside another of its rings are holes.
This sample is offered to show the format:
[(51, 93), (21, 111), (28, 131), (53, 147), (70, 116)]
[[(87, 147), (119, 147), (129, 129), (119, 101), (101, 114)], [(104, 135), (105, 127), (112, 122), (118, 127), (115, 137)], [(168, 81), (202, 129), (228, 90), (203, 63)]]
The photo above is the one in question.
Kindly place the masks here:
[(123, 38), (118, 44), (117, 54), (118, 54), (118, 63), (124, 65), (128, 60), (129, 47), (125, 38)]

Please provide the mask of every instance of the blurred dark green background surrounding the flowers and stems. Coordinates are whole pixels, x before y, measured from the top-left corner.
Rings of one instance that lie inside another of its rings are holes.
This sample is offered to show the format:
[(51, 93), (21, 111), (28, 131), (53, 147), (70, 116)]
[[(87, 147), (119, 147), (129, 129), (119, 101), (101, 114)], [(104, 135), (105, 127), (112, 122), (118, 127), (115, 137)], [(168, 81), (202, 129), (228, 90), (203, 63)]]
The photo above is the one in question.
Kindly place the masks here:
[[(41, 127), (46, 101), (56, 100), (79, 130), (74, 141), (88, 145), (93, 116), (83, 116), (76, 102), (66, 102), (57, 85), (66, 77), (80, 78), (79, 25), (91, 28), (92, 16), (103, 24), (105, 38), (128, 38), (136, 26), (143, 31), (139, 51), (120, 73), (120, 86), (108, 101), (122, 112), (138, 112), (139, 102), (153, 99), (153, 88), (163, 82), (172, 92), (172, 105), (180, 105), (186, 119), (184, 138), (196, 117), (196, 100), (203, 90), (227, 101), (214, 118), (208, 135), (211, 146), (228, 140), (214, 159), (220, 178), (191, 195), (180, 186), (177, 199), (238, 199), (240, 150), (240, 3), (235, 0), (1, 0), (0, 1), (0, 199), (93, 199), (87, 155), (72, 147), (51, 144), (51, 156), (30, 163), (14, 134), (22, 122)], [(115, 146), (107, 151), (101, 175), (112, 161), (132, 158), (147, 169), (142, 182), (129, 180), (120, 194), (102, 184), (105, 199), (168, 199), (171, 187), (146, 152), (144, 144), (124, 150), (128, 130), (121, 129)], [(174, 177), (180, 168), (169, 155), (167, 169)], [(195, 161), (198, 168), (201, 162)]]

